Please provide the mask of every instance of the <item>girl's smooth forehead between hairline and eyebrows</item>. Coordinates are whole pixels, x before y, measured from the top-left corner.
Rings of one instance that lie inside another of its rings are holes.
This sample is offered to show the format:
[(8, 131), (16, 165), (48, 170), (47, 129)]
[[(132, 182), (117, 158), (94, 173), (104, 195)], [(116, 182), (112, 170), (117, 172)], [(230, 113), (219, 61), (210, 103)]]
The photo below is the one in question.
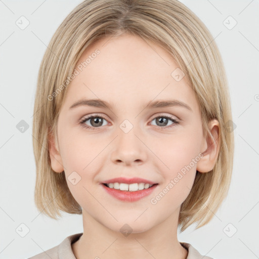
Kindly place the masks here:
[(78, 75), (68, 86), (66, 103), (100, 98), (133, 104), (171, 97), (197, 106), (187, 77), (179, 81), (173, 76), (178, 67), (165, 50), (139, 36), (106, 36), (79, 58), (75, 66)]

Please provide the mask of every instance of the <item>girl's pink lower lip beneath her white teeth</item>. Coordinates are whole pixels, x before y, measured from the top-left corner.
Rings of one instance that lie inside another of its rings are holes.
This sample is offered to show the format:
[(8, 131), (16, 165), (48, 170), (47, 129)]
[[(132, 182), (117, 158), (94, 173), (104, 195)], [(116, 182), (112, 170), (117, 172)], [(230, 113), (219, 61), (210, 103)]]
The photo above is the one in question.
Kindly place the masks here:
[(148, 189), (143, 189), (143, 190), (139, 190), (136, 192), (112, 189), (112, 188), (106, 187), (104, 184), (102, 184), (102, 186), (106, 192), (108, 192), (110, 195), (117, 198), (118, 200), (137, 201), (137, 200), (140, 200), (141, 198), (144, 198), (144, 197), (148, 196), (149, 194), (151, 194), (154, 191), (154, 189), (157, 187), (157, 184), (154, 184), (152, 187), (150, 187)]

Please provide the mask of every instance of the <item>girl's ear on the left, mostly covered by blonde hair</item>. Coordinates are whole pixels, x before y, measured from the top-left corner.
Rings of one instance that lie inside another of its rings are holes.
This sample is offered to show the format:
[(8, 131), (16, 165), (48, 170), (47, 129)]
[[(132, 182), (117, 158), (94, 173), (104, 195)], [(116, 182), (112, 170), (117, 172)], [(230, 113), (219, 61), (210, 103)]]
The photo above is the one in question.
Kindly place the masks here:
[(64, 167), (63, 167), (61, 155), (59, 153), (58, 142), (55, 136), (53, 136), (53, 134), (49, 134), (48, 143), (49, 143), (49, 153), (50, 153), (50, 159), (51, 159), (51, 168), (55, 172), (63, 172)]

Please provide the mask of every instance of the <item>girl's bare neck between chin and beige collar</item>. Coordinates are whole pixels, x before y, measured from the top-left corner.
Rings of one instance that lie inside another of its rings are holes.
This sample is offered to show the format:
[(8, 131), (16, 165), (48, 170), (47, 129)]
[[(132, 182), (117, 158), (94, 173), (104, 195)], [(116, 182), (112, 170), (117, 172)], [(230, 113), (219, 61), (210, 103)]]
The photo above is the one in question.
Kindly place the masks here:
[(177, 239), (177, 212), (147, 230), (140, 227), (134, 230), (116, 222), (115, 225), (120, 227), (118, 231), (114, 231), (83, 210), (83, 234), (72, 244), (73, 253), (76, 259), (130, 259), (150, 256), (156, 259), (186, 259), (188, 251)]

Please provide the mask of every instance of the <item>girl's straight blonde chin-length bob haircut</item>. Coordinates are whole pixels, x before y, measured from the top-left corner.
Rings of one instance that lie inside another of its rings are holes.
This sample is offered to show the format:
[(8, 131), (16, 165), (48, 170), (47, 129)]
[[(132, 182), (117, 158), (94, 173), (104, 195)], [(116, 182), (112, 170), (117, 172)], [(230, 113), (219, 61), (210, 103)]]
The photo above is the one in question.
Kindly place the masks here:
[(67, 86), (85, 49), (106, 36), (138, 35), (163, 48), (175, 61), (198, 100), (203, 136), (208, 121), (219, 121), (220, 151), (214, 168), (196, 176), (181, 204), (181, 232), (193, 223), (207, 224), (226, 198), (233, 169), (234, 133), (230, 96), (221, 54), (201, 20), (177, 0), (85, 0), (65, 18), (53, 35), (37, 77), (33, 116), (33, 152), (36, 163), (34, 200), (53, 219), (60, 211), (81, 214), (82, 208), (67, 186), (64, 171), (51, 168), (49, 136), (56, 142), (56, 125)]

